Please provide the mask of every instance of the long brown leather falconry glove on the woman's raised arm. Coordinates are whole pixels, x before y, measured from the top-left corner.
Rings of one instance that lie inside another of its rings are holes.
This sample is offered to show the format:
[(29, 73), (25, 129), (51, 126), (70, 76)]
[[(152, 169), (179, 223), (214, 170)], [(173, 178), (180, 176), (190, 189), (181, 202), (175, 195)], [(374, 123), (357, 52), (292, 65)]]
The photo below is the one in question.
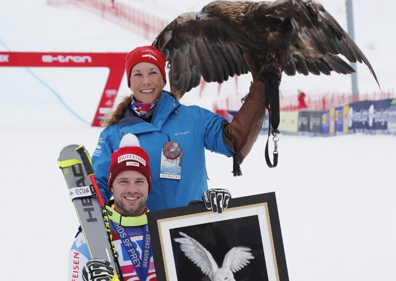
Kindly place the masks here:
[(264, 66), (250, 85), (247, 98), (231, 123), (223, 124), (223, 140), (235, 153), (234, 176), (242, 175), (239, 165), (257, 140), (264, 121), (266, 108), (265, 87), (262, 81), (266, 73)]

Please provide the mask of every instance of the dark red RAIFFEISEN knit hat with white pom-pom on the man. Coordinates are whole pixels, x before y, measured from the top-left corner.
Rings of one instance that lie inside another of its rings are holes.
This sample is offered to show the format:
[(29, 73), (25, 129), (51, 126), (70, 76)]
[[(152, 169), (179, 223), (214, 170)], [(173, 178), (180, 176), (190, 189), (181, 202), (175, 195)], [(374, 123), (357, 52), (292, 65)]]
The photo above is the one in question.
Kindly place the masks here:
[(151, 189), (151, 170), (149, 157), (140, 147), (138, 138), (133, 134), (126, 134), (120, 142), (120, 148), (111, 154), (108, 170), (108, 188), (113, 184), (115, 177), (126, 170), (141, 172), (148, 181), (148, 192)]

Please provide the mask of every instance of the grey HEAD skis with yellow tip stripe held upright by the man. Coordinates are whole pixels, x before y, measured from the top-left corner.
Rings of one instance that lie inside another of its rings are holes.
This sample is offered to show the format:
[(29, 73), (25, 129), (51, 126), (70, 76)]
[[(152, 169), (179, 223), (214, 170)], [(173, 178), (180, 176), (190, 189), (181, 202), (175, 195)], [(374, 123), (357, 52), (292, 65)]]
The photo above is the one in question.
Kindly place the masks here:
[(68, 145), (60, 151), (58, 165), (69, 188), (91, 258), (109, 261), (118, 279), (123, 281), (105, 202), (94, 178), (89, 153), (83, 145)]

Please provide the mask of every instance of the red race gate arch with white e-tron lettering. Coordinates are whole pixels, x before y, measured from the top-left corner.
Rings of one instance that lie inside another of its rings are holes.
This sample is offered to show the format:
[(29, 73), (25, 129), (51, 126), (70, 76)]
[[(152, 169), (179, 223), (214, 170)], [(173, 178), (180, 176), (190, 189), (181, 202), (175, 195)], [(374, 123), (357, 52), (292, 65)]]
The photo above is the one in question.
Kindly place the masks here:
[(126, 53), (0, 52), (0, 67), (107, 67), (110, 71), (92, 126), (111, 108), (125, 71)]

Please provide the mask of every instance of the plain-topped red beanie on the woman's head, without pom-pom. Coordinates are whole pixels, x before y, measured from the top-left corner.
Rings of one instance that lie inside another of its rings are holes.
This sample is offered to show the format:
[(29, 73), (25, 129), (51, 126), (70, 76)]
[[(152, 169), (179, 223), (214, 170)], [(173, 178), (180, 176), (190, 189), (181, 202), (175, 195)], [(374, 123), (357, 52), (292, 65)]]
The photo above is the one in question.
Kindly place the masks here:
[(152, 46), (137, 47), (131, 50), (125, 57), (127, 62), (125, 63), (125, 70), (128, 78), (128, 88), (131, 88), (131, 70), (132, 67), (139, 62), (150, 62), (155, 64), (162, 74), (162, 78), (166, 84), (166, 73), (165, 73), (165, 62), (164, 55)]

